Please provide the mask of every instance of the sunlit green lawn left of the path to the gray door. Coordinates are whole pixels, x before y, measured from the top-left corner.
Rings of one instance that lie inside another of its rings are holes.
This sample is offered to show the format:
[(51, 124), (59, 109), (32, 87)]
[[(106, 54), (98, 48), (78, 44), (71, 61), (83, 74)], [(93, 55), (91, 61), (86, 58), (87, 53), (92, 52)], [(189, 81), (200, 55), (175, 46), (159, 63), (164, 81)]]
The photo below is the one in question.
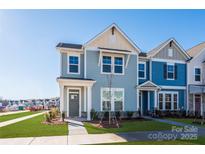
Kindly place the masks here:
[(0, 138), (60, 136), (68, 134), (68, 125), (42, 124), (44, 115), (0, 128)]

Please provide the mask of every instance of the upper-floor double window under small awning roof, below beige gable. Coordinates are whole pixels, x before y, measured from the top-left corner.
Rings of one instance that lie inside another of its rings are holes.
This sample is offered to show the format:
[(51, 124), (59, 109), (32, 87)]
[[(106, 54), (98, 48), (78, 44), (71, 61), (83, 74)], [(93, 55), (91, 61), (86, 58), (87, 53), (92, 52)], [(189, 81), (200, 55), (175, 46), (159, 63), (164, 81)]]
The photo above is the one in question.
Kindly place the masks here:
[(102, 73), (123, 74), (124, 73), (123, 57), (103, 56)]

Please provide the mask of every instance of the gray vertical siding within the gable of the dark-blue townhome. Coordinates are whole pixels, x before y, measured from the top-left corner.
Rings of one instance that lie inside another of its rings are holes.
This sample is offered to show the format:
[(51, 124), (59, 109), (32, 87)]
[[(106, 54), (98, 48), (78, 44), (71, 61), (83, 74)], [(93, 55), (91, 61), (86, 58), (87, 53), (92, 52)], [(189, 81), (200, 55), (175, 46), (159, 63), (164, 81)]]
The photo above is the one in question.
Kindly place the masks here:
[(171, 60), (185, 60), (184, 57), (180, 53), (180, 49), (174, 45), (172, 45), (173, 49), (173, 57), (168, 56), (168, 49), (169, 49), (169, 44), (164, 47), (161, 51), (159, 51), (154, 58), (160, 58), (160, 59), (171, 59)]

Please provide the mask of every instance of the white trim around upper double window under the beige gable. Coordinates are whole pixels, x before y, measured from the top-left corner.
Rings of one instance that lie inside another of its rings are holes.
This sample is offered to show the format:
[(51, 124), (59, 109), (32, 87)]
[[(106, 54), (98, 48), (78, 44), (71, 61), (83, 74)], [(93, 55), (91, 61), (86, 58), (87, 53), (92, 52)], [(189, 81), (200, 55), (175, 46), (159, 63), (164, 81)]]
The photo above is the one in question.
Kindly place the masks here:
[[(115, 54), (105, 54), (103, 53), (101, 58), (101, 74), (114, 74), (114, 75), (124, 75), (125, 73), (125, 58), (123, 55), (115, 55)], [(111, 57), (111, 73), (103, 72), (103, 56)], [(115, 57), (122, 58), (122, 73), (115, 73)]]

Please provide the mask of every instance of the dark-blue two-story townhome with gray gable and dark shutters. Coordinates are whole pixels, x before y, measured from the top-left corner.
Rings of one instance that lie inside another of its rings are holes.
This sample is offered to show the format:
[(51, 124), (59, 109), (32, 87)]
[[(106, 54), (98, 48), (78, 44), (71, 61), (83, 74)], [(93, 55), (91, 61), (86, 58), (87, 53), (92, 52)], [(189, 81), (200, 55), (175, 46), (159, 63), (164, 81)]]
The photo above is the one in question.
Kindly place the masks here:
[(186, 61), (190, 56), (171, 38), (139, 54), (139, 106), (143, 114), (186, 110)]

